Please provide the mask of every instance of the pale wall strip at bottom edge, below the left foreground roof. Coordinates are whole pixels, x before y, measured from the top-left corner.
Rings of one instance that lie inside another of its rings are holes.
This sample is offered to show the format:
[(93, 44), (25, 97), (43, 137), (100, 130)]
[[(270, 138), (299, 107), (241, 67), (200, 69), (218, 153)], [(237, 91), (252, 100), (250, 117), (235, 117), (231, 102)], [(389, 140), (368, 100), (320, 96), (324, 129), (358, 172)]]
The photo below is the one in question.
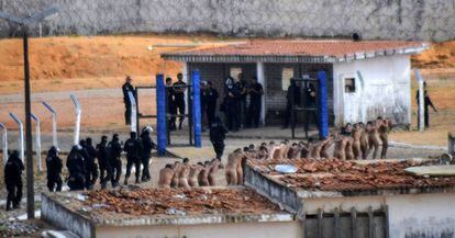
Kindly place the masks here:
[(231, 223), (97, 228), (99, 238), (301, 238), (300, 222)]

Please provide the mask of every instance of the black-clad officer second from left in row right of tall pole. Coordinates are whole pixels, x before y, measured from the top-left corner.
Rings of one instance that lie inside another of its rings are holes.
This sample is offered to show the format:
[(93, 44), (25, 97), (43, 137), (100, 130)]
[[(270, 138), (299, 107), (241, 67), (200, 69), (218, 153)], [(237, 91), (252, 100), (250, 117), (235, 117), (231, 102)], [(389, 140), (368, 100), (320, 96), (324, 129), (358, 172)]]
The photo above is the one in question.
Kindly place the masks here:
[(69, 172), (68, 186), (71, 191), (84, 190), (86, 186), (86, 167), (84, 158), (78, 150), (79, 148), (74, 146), (66, 160), (66, 167)]

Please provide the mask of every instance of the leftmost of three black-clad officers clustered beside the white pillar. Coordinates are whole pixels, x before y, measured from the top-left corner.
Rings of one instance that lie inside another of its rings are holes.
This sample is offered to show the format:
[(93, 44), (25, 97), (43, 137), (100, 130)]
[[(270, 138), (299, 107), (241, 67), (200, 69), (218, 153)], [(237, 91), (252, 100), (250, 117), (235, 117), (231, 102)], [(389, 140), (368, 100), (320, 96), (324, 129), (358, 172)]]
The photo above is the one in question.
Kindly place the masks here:
[(222, 111), (225, 114), (228, 121), (229, 131), (237, 132), (240, 127), (238, 116), (238, 98), (240, 92), (236, 84), (232, 79), (228, 79), (225, 82), (225, 97), (222, 104)]

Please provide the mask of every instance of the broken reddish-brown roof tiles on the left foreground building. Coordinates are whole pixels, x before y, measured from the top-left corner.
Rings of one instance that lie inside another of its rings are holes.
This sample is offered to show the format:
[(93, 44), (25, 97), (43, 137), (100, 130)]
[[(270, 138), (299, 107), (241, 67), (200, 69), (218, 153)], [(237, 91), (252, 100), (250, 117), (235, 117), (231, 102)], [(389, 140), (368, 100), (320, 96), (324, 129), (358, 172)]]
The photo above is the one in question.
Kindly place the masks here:
[(140, 215), (263, 214), (279, 207), (249, 189), (120, 189), (86, 193), (85, 205), (100, 212)]

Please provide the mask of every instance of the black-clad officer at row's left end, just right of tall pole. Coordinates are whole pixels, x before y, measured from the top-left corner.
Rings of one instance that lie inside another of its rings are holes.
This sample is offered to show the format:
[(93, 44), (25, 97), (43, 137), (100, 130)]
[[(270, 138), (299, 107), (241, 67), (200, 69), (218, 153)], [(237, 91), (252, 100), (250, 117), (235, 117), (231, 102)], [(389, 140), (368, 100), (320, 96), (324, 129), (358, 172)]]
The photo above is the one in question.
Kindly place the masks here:
[(47, 168), (47, 189), (49, 192), (60, 192), (62, 191), (62, 169), (63, 162), (62, 159), (57, 156), (57, 149), (52, 147), (47, 152), (46, 157), (46, 168)]

